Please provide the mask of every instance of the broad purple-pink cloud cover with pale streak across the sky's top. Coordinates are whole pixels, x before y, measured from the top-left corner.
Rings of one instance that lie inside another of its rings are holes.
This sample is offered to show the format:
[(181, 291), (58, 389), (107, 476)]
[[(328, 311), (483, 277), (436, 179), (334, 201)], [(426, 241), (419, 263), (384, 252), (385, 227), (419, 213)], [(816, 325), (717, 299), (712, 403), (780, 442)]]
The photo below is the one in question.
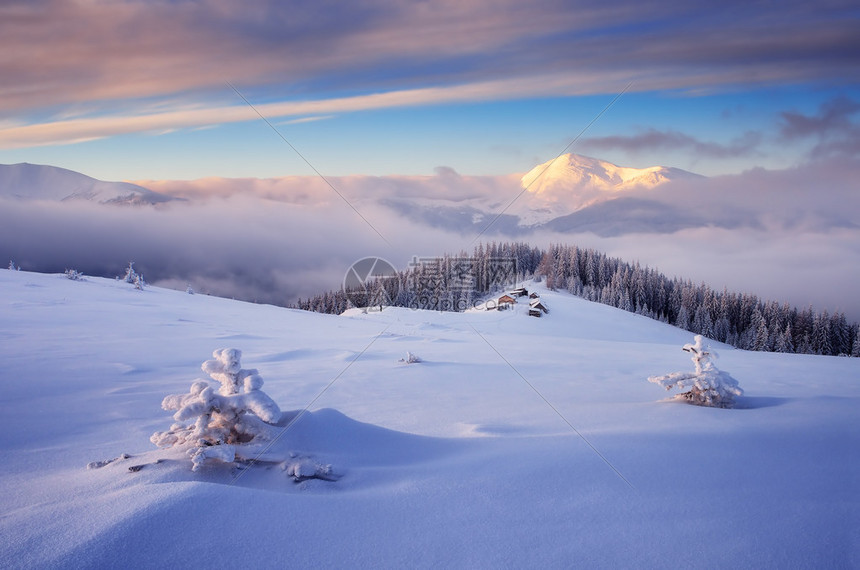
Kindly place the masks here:
[[(850, 3), (5, 2), (3, 148), (453, 101), (851, 77)], [(707, 143), (704, 143), (707, 145)], [(709, 150), (704, 148), (704, 151)], [(719, 148), (710, 149), (718, 151)], [(731, 151), (731, 149), (728, 149)]]

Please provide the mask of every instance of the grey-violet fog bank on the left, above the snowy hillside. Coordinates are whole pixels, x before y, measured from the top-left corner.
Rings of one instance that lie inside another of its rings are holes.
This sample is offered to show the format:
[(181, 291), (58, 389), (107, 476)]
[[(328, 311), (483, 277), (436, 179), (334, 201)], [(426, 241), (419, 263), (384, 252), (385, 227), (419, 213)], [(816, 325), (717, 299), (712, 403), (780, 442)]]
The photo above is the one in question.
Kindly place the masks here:
[(452, 249), (433, 228), (363, 207), (395, 247), (342, 203), (307, 206), (233, 195), (159, 208), (0, 199), (0, 258), (25, 270), (120, 275), (128, 261), (148, 282), (283, 305), (340, 286), (357, 259), (405, 267)]

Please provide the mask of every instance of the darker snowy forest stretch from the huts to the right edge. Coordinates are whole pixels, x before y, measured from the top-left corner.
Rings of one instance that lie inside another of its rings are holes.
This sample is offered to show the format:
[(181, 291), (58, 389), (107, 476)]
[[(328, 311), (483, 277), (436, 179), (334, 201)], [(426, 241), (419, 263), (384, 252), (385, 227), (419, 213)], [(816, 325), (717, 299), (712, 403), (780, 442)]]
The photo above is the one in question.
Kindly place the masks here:
[(743, 348), (860, 356), (860, 326), (845, 313), (799, 310), (747, 293), (714, 291), (593, 249), (551, 245), (537, 274), (550, 289), (612, 305)]

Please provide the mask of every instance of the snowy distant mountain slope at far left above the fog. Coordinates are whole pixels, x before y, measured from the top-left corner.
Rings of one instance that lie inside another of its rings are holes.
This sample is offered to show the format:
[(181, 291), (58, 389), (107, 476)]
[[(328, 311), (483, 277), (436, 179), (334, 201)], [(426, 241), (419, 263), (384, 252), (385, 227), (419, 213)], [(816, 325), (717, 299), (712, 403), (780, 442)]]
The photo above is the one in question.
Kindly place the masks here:
[(26, 162), (0, 164), (0, 196), (100, 204), (157, 204), (174, 199), (136, 184), (104, 182), (73, 170)]

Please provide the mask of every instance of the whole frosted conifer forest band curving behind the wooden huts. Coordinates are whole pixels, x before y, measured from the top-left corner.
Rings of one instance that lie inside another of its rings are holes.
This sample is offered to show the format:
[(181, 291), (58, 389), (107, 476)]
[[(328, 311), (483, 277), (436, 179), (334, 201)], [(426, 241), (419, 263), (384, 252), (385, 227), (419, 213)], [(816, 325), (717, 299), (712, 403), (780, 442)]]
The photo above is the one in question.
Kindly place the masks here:
[(530, 278), (746, 350), (860, 356), (860, 325), (843, 312), (715, 291), (576, 245), (479, 244), (471, 254), (417, 260), (364, 288), (329, 291), (295, 307), (332, 314), (374, 305), (462, 311)]

